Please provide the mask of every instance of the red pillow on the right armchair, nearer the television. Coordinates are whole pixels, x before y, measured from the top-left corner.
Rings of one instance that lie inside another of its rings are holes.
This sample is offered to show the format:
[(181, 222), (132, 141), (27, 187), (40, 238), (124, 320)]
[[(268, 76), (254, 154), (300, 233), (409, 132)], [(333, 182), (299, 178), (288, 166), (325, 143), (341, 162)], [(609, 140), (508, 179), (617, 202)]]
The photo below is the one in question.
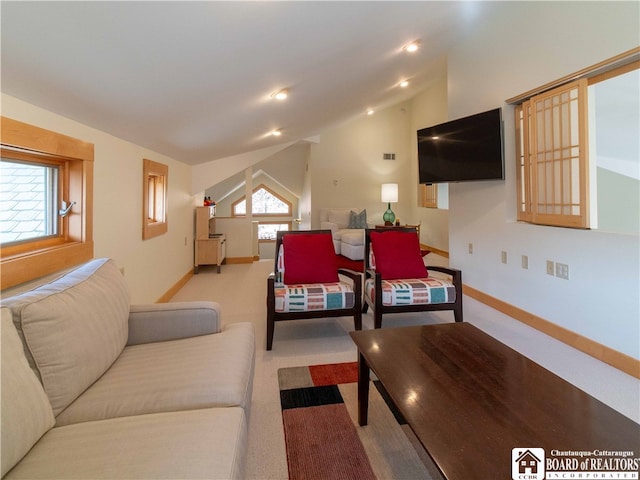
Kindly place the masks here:
[(420, 242), (415, 232), (376, 232), (370, 234), (376, 271), (383, 280), (426, 278), (427, 267), (420, 255)]

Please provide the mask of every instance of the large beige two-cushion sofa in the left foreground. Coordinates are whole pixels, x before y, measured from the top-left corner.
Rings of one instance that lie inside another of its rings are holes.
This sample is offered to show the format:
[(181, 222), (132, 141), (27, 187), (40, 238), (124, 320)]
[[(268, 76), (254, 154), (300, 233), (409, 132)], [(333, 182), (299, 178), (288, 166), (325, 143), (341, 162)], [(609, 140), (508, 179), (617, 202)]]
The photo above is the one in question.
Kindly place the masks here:
[(98, 259), (2, 300), (3, 479), (242, 478), (250, 323), (212, 302), (131, 306)]

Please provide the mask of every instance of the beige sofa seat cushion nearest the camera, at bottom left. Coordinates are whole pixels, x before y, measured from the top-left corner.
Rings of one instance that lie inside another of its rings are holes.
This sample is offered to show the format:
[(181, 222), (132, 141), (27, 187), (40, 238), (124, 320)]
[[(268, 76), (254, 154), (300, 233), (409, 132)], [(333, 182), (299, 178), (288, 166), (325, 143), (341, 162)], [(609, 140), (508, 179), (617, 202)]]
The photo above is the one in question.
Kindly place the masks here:
[(50, 430), (3, 480), (242, 478), (246, 445), (237, 407), (121, 417)]

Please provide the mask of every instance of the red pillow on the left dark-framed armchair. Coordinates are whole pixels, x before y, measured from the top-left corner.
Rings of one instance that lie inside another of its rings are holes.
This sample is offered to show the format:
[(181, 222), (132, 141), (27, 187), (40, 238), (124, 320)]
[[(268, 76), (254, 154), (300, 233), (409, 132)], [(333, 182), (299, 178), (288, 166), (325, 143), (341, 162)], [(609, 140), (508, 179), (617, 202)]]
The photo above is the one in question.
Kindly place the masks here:
[(285, 235), (284, 283), (334, 283), (338, 264), (330, 233)]

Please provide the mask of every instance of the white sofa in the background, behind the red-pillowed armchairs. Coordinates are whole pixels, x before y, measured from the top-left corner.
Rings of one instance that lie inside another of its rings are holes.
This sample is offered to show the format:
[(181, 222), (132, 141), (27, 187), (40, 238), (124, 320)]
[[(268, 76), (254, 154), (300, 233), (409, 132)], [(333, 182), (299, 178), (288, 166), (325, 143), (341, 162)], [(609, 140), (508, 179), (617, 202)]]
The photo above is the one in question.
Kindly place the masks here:
[(363, 228), (349, 228), (351, 212), (357, 214), (358, 208), (321, 208), (320, 228), (331, 230), (336, 254), (351, 260), (364, 260), (364, 228), (373, 228), (371, 224)]

